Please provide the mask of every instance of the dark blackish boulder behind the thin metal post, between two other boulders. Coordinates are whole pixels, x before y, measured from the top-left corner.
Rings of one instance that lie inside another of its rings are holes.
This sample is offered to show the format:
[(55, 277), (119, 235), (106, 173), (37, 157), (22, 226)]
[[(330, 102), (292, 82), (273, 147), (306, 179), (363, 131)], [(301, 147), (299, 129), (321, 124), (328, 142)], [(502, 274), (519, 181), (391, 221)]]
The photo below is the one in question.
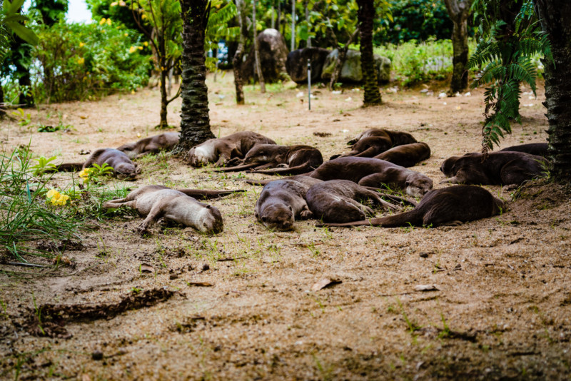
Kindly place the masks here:
[(303, 48), (291, 51), (288, 60), (285, 61), (285, 68), (288, 69), (292, 81), (305, 83), (308, 81), (308, 60), (311, 63), (311, 81), (321, 80), (321, 69), (325, 59), (331, 53), (329, 49), (323, 48)]

